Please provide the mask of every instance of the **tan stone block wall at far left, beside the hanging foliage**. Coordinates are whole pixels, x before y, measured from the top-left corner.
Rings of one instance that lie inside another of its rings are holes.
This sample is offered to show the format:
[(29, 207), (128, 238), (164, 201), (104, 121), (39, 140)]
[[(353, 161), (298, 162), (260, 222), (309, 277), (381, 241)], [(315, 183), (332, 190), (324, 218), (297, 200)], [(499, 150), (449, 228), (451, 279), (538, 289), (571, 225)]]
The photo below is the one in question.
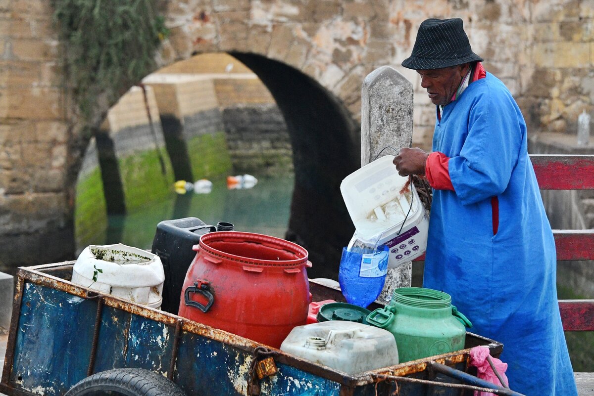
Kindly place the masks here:
[(71, 142), (51, 14), (48, 1), (0, 1), (0, 270), (64, 258), (74, 247)]

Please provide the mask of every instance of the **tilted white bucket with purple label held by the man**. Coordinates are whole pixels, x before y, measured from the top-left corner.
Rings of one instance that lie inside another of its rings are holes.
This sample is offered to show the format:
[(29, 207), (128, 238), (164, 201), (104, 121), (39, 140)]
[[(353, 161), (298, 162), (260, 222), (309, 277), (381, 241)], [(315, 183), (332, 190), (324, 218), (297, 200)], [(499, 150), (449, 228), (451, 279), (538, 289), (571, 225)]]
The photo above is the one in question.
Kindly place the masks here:
[[(359, 238), (390, 248), (388, 267), (421, 256), (427, 247), (429, 219), (408, 177), (400, 176), (393, 155), (378, 158), (345, 177), (340, 192)], [(412, 205), (411, 205), (412, 202)]]

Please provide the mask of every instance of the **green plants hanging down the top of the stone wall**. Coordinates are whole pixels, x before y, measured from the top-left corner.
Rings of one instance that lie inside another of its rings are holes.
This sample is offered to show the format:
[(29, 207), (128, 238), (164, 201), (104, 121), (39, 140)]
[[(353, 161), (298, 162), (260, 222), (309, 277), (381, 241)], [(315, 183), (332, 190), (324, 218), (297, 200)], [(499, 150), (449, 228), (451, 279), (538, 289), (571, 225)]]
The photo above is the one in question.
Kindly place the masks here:
[(154, 0), (52, 0), (53, 21), (65, 45), (67, 75), (81, 112), (97, 95), (115, 101), (154, 68), (154, 52), (168, 36)]

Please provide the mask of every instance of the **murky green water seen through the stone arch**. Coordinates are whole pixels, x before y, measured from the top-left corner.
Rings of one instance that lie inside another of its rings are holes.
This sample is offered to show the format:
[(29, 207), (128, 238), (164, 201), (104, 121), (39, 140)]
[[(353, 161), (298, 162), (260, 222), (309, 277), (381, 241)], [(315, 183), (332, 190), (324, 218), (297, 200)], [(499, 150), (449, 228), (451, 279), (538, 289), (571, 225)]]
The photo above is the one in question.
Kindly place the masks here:
[(225, 221), (233, 223), (236, 231), (284, 238), (292, 193), (292, 175), (258, 177), (258, 184), (248, 190), (229, 190), (223, 178), (213, 180), (209, 194), (176, 194), (172, 189), (166, 200), (146, 205), (128, 215), (108, 216), (106, 229), (77, 230), (78, 235), (90, 235), (86, 240), (77, 241), (77, 254), (91, 244), (118, 242), (150, 249), (157, 223), (185, 217), (195, 217), (211, 225)]

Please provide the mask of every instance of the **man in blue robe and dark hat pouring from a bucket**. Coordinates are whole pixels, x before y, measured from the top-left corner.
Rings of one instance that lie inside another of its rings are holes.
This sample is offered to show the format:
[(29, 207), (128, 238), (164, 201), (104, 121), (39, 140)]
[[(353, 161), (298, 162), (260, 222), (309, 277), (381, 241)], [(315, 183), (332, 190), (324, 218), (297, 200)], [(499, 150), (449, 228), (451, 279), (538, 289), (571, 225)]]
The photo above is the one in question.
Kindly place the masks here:
[(419, 27), (415, 69), (437, 105), (433, 152), (403, 148), (400, 175), (433, 190), (424, 287), (442, 290), (473, 332), (504, 344), (510, 388), (577, 395), (557, 302), (556, 253), (526, 123), (505, 85), (485, 72), (462, 20)]

